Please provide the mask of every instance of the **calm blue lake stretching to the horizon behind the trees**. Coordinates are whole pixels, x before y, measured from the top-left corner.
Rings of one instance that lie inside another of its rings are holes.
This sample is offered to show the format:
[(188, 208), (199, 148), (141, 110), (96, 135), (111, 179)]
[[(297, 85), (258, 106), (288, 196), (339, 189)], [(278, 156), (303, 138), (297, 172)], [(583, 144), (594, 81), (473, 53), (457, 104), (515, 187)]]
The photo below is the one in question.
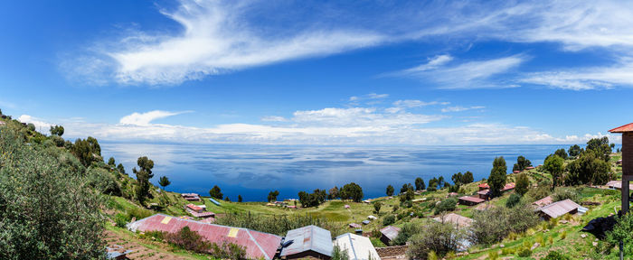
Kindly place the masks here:
[(533, 165), (569, 145), (482, 146), (269, 146), (226, 144), (101, 144), (104, 158), (114, 156), (132, 174), (137, 158), (154, 160), (155, 184), (167, 176), (166, 190), (208, 195), (213, 185), (231, 200), (266, 200), (270, 190), (279, 199), (297, 198), (300, 190), (330, 189), (354, 181), (366, 198), (384, 196), (417, 177), (473, 172), (475, 180), (487, 178), (496, 156), (504, 156), (508, 171), (524, 155)]

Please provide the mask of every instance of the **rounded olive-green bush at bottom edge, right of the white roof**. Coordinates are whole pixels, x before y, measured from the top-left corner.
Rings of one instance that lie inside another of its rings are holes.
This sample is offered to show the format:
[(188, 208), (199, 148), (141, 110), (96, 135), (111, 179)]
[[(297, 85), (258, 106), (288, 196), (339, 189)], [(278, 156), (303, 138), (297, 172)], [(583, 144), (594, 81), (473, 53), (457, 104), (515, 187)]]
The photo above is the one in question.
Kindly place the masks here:
[(428, 252), (433, 251), (443, 256), (456, 251), (463, 237), (463, 233), (453, 225), (433, 221), (409, 239), (407, 255), (411, 259), (425, 259)]

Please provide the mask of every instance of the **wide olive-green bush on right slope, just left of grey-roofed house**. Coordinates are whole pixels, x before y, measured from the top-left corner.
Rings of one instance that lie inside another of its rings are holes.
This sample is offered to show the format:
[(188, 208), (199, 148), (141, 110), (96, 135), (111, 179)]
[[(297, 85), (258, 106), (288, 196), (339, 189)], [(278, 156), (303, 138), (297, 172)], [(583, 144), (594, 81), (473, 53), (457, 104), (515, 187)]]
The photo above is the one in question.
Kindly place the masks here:
[(521, 204), (512, 209), (496, 207), (475, 212), (473, 220), (470, 240), (482, 245), (499, 242), (511, 233), (522, 233), (539, 222), (533, 209)]

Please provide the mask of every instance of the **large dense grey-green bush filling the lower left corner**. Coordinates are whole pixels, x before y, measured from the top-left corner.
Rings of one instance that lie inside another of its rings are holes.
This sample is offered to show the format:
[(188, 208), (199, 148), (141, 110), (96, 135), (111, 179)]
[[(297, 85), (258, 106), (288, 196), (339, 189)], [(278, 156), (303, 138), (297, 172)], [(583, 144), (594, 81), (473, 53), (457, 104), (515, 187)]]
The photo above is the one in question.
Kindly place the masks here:
[(104, 258), (102, 195), (71, 155), (23, 140), (0, 133), (0, 259)]

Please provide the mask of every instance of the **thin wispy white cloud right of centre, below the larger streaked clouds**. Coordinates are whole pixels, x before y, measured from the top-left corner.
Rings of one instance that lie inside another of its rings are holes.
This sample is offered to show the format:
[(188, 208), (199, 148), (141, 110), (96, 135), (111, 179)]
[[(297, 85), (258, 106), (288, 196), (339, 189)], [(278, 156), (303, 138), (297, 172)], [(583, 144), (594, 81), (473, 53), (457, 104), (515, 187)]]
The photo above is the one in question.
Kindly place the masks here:
[(524, 55), (513, 55), (492, 60), (467, 61), (453, 66), (441, 66), (443, 63), (430, 66), (430, 63), (426, 63), (392, 75), (428, 79), (436, 82), (439, 88), (510, 88), (509, 83), (499, 84), (489, 79), (515, 69), (525, 60)]

